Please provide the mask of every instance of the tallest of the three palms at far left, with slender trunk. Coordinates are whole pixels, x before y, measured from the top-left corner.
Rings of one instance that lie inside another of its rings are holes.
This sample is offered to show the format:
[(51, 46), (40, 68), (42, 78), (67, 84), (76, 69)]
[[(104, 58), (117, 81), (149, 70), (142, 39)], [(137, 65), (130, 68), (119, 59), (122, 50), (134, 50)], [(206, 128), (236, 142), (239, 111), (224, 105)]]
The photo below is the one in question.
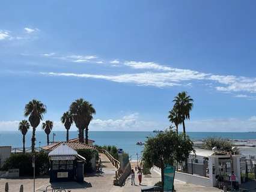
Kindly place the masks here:
[(32, 126), (31, 151), (35, 152), (35, 128), (43, 120), (43, 114), (46, 113), (46, 106), (41, 101), (32, 100), (25, 106), (24, 115), (29, 116), (28, 120)]

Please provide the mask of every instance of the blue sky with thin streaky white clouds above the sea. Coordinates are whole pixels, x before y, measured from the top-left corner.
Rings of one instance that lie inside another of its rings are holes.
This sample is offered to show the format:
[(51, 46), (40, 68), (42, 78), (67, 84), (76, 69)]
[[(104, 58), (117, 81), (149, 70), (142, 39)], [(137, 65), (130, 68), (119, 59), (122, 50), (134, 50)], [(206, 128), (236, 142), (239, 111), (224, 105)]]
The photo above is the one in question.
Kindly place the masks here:
[[(59, 122), (76, 98), (91, 130), (169, 126), (180, 91), (187, 131), (256, 130), (255, 1), (2, 1), (0, 130), (32, 98)], [(73, 130), (76, 130), (73, 127)]]

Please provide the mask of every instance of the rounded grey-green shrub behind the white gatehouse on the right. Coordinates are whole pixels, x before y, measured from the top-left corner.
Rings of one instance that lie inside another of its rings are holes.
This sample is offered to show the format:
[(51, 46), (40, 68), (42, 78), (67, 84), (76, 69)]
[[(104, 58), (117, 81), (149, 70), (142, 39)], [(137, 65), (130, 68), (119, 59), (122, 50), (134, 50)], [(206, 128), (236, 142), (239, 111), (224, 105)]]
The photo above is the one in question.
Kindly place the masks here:
[(212, 150), (215, 146), (219, 151), (231, 152), (233, 144), (228, 139), (221, 137), (207, 137), (204, 141), (204, 148), (206, 149)]

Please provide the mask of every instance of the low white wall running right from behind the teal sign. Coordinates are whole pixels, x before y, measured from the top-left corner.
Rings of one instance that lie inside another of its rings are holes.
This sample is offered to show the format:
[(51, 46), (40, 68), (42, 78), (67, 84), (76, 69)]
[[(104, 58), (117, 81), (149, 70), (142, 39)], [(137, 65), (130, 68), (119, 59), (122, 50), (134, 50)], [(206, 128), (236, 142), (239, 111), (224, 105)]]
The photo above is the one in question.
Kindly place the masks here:
[(212, 182), (209, 178), (204, 176), (190, 175), (187, 173), (175, 172), (175, 179), (187, 182), (190, 184), (202, 185), (205, 187), (213, 187)]

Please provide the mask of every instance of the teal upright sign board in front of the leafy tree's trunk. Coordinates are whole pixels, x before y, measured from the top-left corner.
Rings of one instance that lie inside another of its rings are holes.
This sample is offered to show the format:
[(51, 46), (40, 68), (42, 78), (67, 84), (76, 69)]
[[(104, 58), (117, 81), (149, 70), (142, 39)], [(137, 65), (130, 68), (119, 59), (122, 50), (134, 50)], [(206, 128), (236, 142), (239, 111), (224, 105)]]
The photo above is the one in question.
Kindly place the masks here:
[(163, 191), (172, 191), (173, 182), (174, 182), (174, 175), (175, 175), (175, 167), (170, 166), (169, 164), (167, 164), (165, 169), (163, 170), (163, 174), (165, 174), (165, 181), (164, 181), (164, 185), (163, 185)]

